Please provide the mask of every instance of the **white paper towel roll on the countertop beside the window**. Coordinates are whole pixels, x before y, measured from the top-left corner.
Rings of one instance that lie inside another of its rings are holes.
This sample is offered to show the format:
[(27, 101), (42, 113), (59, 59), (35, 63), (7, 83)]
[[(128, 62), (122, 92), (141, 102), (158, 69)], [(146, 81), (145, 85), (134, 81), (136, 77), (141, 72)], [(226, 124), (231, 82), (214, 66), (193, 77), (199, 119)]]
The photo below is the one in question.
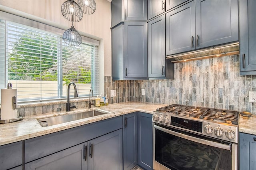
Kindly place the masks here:
[(12, 97), (16, 97), (17, 89), (1, 89), (1, 120), (10, 120), (18, 117), (16, 109), (12, 109)]

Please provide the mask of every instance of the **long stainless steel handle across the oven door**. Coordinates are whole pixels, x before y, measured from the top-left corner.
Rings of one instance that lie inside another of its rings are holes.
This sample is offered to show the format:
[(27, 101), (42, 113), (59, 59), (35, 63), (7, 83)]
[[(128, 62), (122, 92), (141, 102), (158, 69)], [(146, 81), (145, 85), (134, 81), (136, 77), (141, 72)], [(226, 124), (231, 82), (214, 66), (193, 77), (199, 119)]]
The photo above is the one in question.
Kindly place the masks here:
[(194, 142), (198, 142), (198, 143), (201, 143), (201, 144), (206, 144), (206, 145), (209, 145), (209, 146), (214, 146), (214, 147), (217, 147), (217, 148), (222, 148), (222, 149), (226, 149), (226, 150), (230, 150), (230, 151), (231, 151), (231, 148), (232, 148), (232, 147), (230, 147), (230, 145), (227, 145), (227, 144), (222, 144), (222, 143), (218, 143), (218, 142), (213, 142), (213, 141), (209, 141), (209, 140), (196, 138), (196, 137), (193, 137), (193, 136), (188, 136), (186, 134), (182, 134), (182, 133), (175, 132), (175, 131), (172, 131), (172, 130), (169, 130), (169, 129), (166, 129), (166, 128), (159, 127), (157, 125), (154, 125), (154, 128), (156, 128), (158, 130), (161, 130), (163, 132), (172, 134), (174, 136), (178, 136), (180, 138), (184, 138), (184, 139), (191, 140), (191, 141), (194, 141)]

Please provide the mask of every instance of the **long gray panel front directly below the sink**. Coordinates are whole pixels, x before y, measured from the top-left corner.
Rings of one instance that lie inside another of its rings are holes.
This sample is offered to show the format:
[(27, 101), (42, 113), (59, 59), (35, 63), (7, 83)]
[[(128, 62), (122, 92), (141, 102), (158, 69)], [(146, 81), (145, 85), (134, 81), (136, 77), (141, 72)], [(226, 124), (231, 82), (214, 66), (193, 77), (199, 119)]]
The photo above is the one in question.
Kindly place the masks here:
[(26, 163), (122, 128), (122, 116), (25, 140)]

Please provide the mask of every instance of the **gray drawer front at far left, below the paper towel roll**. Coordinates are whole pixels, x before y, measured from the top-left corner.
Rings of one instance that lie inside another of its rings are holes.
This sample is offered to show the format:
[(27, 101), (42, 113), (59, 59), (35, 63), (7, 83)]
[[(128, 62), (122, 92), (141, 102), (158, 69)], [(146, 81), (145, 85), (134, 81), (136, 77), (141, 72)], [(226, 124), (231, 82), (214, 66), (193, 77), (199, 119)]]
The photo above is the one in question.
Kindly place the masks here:
[(22, 169), (22, 142), (0, 146), (0, 169)]

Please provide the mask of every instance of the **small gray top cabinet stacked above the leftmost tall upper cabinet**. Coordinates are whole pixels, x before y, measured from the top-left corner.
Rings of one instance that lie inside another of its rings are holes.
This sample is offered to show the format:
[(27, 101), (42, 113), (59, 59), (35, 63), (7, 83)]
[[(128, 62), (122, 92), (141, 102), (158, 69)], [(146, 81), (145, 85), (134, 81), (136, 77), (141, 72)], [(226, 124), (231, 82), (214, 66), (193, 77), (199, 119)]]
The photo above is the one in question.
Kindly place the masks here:
[(147, 0), (112, 0), (111, 26), (123, 21), (147, 20)]

